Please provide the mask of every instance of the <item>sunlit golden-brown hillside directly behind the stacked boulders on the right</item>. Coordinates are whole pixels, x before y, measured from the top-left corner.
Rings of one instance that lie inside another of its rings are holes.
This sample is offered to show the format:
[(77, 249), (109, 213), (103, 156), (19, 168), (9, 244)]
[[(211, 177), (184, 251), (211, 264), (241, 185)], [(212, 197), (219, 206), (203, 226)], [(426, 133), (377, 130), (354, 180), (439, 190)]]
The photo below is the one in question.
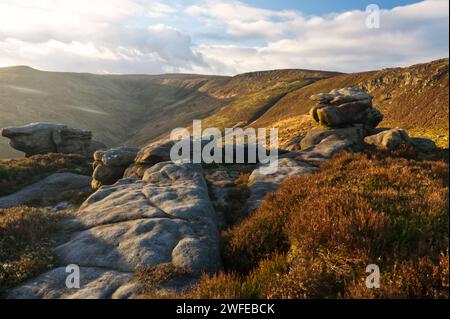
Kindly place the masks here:
[(374, 97), (374, 105), (384, 114), (380, 126), (400, 126), (412, 135), (432, 138), (448, 147), (448, 59), (317, 81), (284, 96), (251, 126), (279, 127), (284, 139), (307, 131), (311, 122), (304, 115), (315, 103), (309, 97), (349, 86)]

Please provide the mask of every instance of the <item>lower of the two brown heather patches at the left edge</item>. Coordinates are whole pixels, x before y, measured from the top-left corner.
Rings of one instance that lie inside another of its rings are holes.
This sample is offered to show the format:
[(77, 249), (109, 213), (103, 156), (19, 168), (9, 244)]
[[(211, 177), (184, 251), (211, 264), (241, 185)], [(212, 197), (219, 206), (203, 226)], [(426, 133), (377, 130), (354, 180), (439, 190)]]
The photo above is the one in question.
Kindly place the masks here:
[(0, 209), (0, 292), (54, 266), (58, 217), (25, 206)]

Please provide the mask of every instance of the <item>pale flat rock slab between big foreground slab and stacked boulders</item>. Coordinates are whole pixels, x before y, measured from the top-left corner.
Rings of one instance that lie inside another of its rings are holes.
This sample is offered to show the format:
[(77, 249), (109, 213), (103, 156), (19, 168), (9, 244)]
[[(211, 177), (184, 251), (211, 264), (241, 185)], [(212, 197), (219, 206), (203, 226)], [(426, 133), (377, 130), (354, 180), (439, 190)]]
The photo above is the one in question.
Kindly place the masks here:
[(317, 167), (292, 158), (280, 158), (277, 171), (271, 174), (264, 173), (267, 166), (267, 164), (259, 165), (249, 177), (248, 205), (251, 210), (261, 206), (264, 197), (270, 192), (275, 192), (288, 177), (310, 175), (319, 171)]

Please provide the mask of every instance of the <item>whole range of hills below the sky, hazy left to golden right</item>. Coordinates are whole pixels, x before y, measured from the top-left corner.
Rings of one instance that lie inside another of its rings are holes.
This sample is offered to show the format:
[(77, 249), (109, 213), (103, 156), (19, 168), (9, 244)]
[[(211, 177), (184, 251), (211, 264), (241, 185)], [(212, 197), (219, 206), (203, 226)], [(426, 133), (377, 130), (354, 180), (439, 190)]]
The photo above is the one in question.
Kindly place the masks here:
[[(306, 131), (309, 96), (356, 86), (375, 97), (382, 125), (448, 145), (448, 59), (341, 74), (275, 70), (234, 77), (94, 75), (0, 68), (0, 127), (61, 122), (92, 130), (108, 146), (142, 146), (193, 119), (214, 127), (278, 127), (281, 141)], [(0, 139), (0, 157), (18, 155)]]

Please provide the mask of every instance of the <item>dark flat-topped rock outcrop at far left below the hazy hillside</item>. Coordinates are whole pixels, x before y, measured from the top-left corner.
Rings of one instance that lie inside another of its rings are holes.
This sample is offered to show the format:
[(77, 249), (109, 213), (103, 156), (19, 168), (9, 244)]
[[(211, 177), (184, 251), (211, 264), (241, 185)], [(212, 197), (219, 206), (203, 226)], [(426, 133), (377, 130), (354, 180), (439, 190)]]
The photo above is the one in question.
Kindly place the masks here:
[(10, 139), (11, 147), (27, 157), (45, 153), (91, 156), (95, 150), (104, 148), (104, 144), (92, 141), (92, 132), (63, 124), (31, 123), (3, 128), (1, 134)]

